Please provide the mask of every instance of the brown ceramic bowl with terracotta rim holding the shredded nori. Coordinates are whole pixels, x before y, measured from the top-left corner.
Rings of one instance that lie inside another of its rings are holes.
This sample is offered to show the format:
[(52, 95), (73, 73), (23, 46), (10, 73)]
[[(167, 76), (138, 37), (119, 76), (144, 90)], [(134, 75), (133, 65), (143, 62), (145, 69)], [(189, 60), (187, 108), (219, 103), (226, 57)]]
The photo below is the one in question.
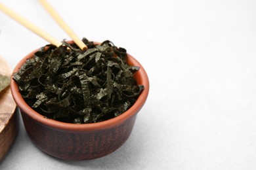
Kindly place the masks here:
[[(32, 58), (37, 50), (23, 58), (16, 65), (14, 73), (18, 72), (26, 59)], [(18, 85), (11, 80), (12, 96), (20, 109), (24, 126), (33, 144), (47, 154), (64, 160), (91, 160), (106, 156), (125, 143), (149, 90), (148, 76), (142, 65), (129, 54), (127, 61), (129, 65), (140, 67), (135, 79), (137, 84), (144, 85), (144, 90), (135, 104), (123, 114), (92, 124), (69, 124), (44, 118), (26, 104), (18, 91)]]

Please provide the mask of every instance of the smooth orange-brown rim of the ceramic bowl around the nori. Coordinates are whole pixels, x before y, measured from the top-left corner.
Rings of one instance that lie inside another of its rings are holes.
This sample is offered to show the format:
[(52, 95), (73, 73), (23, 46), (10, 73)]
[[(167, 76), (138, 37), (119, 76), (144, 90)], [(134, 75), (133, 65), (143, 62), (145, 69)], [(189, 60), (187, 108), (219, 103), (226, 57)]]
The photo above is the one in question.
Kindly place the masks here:
[[(72, 43), (72, 41), (68, 41), (69, 43)], [(95, 42), (95, 44), (99, 44), (98, 42)], [(148, 75), (146, 74), (146, 71), (142, 67), (142, 65), (137, 61), (133, 56), (130, 54), (127, 54), (127, 61), (128, 63), (133, 63), (132, 65), (137, 65), (140, 67), (139, 71), (135, 73), (135, 78), (139, 79), (140, 82), (138, 84), (144, 85), (144, 90), (140, 93), (137, 101), (133, 104), (133, 106), (123, 112), (123, 114), (120, 114), (119, 116), (115, 118), (111, 118), (109, 120), (104, 120), (102, 122), (96, 122), (96, 123), (90, 123), (90, 124), (72, 124), (72, 123), (66, 123), (66, 122), (60, 122), (57, 120), (52, 120), (49, 118), (45, 118), (43, 115), (39, 114), (35, 110), (33, 110), (22, 98), (22, 95), (20, 92), (18, 92), (18, 85), (16, 82), (12, 79), (14, 73), (17, 73), (20, 67), (24, 64), (26, 59), (32, 58), (33, 54), (37, 52), (40, 48), (33, 50), (30, 52), (27, 56), (22, 58), (16, 67), (13, 70), (12, 76), (11, 76), (11, 93), (12, 97), (14, 98), (14, 101), (16, 102), (16, 105), (19, 107), (20, 110), (22, 110), (25, 114), (30, 116), (32, 120), (35, 122), (38, 122), (39, 124), (42, 124), (47, 127), (52, 127), (54, 129), (58, 130), (65, 130), (65, 131), (96, 131), (100, 129), (108, 129), (108, 127), (118, 126), (119, 124), (122, 124), (125, 122), (125, 120), (128, 120), (132, 116), (135, 116), (137, 112), (143, 107), (144, 103), (146, 102), (146, 99), (148, 97), (149, 92), (149, 80)]]

